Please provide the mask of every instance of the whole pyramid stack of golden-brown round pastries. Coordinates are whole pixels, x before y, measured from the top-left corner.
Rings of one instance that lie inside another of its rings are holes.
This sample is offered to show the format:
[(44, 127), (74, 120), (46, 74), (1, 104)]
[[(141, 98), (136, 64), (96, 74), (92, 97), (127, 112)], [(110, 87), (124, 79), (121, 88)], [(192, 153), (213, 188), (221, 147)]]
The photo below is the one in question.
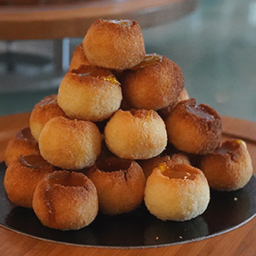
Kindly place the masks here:
[(252, 176), (245, 142), (221, 144), (220, 115), (189, 99), (177, 63), (146, 54), (133, 20), (92, 24), (58, 95), (35, 105), (5, 162), (8, 198), (60, 230), (143, 201), (161, 220), (190, 220), (210, 187), (240, 189)]

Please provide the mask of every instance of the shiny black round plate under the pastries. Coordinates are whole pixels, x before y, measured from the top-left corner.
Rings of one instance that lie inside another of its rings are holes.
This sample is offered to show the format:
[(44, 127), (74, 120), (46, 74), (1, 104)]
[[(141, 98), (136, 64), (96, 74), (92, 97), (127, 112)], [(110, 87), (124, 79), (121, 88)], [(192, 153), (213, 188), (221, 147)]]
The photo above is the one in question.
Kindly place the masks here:
[[(157, 220), (145, 205), (119, 216), (97, 218), (80, 230), (44, 227), (32, 209), (17, 207), (8, 200), (3, 179), (6, 166), (0, 163), (0, 225), (20, 234), (55, 243), (97, 248), (149, 248), (189, 243), (240, 227), (256, 214), (256, 178), (234, 192), (211, 191), (211, 201), (201, 216), (189, 221)], [(237, 199), (236, 199), (237, 198)]]

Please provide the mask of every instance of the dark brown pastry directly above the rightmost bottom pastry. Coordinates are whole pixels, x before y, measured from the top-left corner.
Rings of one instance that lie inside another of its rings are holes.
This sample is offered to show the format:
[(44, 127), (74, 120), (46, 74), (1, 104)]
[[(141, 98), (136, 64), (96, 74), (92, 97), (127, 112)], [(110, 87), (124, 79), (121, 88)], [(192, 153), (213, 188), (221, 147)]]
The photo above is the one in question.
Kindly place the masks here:
[(182, 100), (166, 119), (168, 140), (179, 150), (192, 154), (207, 154), (221, 140), (221, 118), (205, 104), (195, 99)]

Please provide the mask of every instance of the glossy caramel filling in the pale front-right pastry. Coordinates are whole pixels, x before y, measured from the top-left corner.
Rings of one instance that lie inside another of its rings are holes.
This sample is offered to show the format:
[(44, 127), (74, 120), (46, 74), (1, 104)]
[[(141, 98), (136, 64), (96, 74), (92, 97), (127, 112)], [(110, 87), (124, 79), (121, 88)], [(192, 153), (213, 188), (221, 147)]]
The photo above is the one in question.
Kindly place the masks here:
[(186, 172), (182, 168), (170, 168), (166, 163), (159, 164), (161, 173), (169, 179), (194, 180), (196, 173)]

